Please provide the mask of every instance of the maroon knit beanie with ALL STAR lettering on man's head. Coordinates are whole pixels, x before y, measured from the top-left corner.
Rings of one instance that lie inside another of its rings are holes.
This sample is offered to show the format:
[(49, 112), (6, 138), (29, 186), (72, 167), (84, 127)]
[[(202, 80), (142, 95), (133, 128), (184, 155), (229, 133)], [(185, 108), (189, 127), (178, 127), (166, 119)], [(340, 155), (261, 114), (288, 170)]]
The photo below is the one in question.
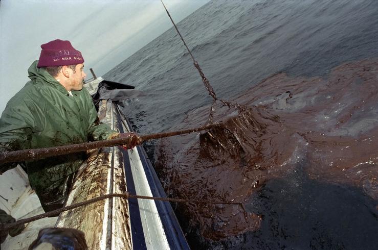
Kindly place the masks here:
[(81, 53), (77, 51), (70, 41), (54, 40), (41, 45), (37, 67), (64, 66), (83, 63)]

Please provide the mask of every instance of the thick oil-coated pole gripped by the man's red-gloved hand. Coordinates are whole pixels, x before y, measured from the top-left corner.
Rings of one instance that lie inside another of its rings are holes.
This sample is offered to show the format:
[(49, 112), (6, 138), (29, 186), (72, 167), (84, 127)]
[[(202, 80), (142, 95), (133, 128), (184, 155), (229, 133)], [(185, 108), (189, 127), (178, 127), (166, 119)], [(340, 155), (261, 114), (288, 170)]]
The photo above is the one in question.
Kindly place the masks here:
[[(209, 129), (220, 127), (220, 126), (221, 126), (221, 123), (212, 123), (207, 126), (202, 126), (202, 127), (193, 128), (193, 129), (143, 135), (143, 136), (140, 136), (140, 138), (142, 139), (140, 143), (146, 140), (165, 138), (165, 137), (183, 135), (183, 134), (190, 134), (193, 132), (209, 130)], [(32, 149), (23, 149), (23, 150), (18, 150), (18, 151), (6, 151), (4, 153), (0, 153), (0, 162), (1, 164), (5, 164), (8, 162), (33, 161), (33, 160), (39, 160), (39, 159), (52, 157), (52, 156), (60, 156), (60, 155), (65, 155), (65, 154), (72, 154), (72, 153), (87, 151), (88, 149), (109, 147), (109, 146), (116, 146), (116, 145), (125, 145), (125, 144), (127, 145), (130, 142), (129, 140), (130, 138), (127, 137), (127, 138), (91, 141), (91, 142), (55, 146), (55, 147), (34, 148), (34, 149), (32, 148)]]

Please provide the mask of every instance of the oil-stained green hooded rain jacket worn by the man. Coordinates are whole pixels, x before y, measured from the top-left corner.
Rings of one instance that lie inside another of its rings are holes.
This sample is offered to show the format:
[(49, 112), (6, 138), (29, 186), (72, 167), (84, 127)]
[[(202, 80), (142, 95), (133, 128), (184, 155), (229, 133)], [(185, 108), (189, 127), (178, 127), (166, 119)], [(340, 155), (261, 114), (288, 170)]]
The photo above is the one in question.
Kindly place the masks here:
[[(29, 67), (29, 81), (8, 102), (0, 118), (0, 151), (52, 147), (104, 140), (116, 131), (99, 123), (88, 91), (68, 91), (38, 61)], [(45, 211), (62, 206), (72, 176), (85, 153), (26, 162), (30, 185)], [(1, 163), (0, 163), (1, 164)], [(0, 173), (16, 164), (0, 165)]]

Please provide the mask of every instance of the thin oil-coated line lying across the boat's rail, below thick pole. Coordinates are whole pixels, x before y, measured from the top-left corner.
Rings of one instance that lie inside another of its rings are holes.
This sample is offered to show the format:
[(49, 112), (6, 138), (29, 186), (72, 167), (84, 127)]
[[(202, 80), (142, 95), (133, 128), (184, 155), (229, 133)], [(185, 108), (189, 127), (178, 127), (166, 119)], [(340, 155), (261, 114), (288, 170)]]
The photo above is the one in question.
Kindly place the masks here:
[(179, 202), (179, 203), (239, 205), (243, 209), (243, 211), (245, 212), (245, 209), (244, 209), (242, 203), (239, 203), (239, 202), (221, 202), (221, 201), (206, 201), (206, 200), (195, 200), (195, 199), (150, 197), (150, 196), (144, 196), (144, 195), (129, 194), (128, 192), (126, 192), (126, 193), (112, 193), (112, 194), (101, 195), (101, 196), (95, 197), (93, 199), (88, 199), (85, 202), (80, 202), (80, 203), (77, 203), (77, 204), (74, 204), (74, 205), (66, 206), (66, 207), (56, 209), (56, 210), (53, 210), (53, 211), (50, 211), (50, 212), (47, 212), (47, 213), (38, 214), (38, 215), (32, 216), (30, 218), (20, 219), (20, 220), (17, 220), (15, 222), (12, 222), (12, 223), (0, 223), (0, 230), (8, 230), (8, 229), (16, 227), (20, 224), (29, 223), (29, 222), (32, 222), (32, 221), (35, 221), (35, 220), (46, 218), (46, 217), (57, 216), (61, 212), (72, 210), (72, 209), (75, 209), (75, 208), (79, 208), (79, 207), (82, 207), (82, 206), (85, 206), (85, 205), (88, 205), (88, 204), (92, 204), (92, 203), (95, 203), (95, 202), (99, 202), (99, 201), (102, 201), (103, 199), (112, 198), (112, 197), (121, 197), (121, 198), (126, 198), (126, 199), (129, 199), (129, 198), (152, 199), (152, 200), (155, 200), (155, 201)]

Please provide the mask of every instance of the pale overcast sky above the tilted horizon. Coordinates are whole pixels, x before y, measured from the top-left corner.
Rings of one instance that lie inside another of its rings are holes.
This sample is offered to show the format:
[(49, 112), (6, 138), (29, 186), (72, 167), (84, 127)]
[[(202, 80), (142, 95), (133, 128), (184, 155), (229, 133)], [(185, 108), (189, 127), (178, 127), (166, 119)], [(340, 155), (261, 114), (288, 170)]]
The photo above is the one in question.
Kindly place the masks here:
[[(210, 0), (163, 0), (177, 23)], [(0, 113), (28, 79), (40, 45), (70, 40), (102, 76), (172, 27), (160, 0), (1, 0)]]

